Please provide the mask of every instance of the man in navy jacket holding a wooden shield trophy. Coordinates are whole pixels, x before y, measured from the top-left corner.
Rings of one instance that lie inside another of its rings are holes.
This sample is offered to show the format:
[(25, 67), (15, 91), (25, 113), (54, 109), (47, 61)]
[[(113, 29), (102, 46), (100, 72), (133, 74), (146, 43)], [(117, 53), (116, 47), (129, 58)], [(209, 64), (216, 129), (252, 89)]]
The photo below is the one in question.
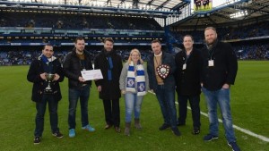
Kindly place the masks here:
[(153, 55), (150, 55), (147, 63), (150, 88), (155, 92), (164, 123), (159, 130), (166, 130), (171, 127), (176, 136), (180, 136), (177, 127), (177, 109), (175, 105), (175, 59), (172, 55), (161, 51), (161, 42), (152, 41)]

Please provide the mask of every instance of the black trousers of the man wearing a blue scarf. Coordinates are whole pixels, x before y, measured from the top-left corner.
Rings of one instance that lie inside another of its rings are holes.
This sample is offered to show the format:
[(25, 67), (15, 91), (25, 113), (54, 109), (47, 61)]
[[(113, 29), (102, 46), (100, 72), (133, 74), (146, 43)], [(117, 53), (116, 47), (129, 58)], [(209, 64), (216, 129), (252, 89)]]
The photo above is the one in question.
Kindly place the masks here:
[(119, 99), (103, 100), (103, 105), (107, 124), (119, 127)]

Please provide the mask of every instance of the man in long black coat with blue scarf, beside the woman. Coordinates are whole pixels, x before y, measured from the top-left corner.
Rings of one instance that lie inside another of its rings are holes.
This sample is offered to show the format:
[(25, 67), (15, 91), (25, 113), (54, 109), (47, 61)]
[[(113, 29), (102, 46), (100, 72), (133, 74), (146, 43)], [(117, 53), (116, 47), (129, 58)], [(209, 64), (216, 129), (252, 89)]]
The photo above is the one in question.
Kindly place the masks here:
[[(114, 125), (117, 132), (120, 132), (119, 98), (119, 77), (122, 70), (120, 55), (113, 50), (114, 41), (112, 38), (104, 39), (104, 49), (94, 60), (94, 69), (100, 69), (103, 75), (102, 80), (96, 80), (99, 97), (103, 100), (106, 126), (105, 130)], [(111, 108), (112, 107), (112, 108)]]

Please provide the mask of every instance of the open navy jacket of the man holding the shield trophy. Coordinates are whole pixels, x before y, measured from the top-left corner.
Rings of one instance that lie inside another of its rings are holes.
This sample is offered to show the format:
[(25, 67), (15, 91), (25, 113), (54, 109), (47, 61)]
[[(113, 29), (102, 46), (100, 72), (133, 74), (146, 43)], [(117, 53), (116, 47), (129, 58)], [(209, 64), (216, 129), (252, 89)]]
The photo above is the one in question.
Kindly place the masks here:
[[(164, 88), (167, 89), (175, 89), (175, 78), (174, 78), (174, 72), (176, 71), (176, 64), (175, 64), (175, 59), (173, 55), (170, 55), (168, 53), (162, 52), (161, 55), (161, 64), (168, 64), (170, 66), (170, 71), (168, 77), (163, 80), (164, 82)], [(154, 91), (157, 90), (157, 79), (155, 75), (155, 69), (154, 69), (154, 55), (149, 55), (148, 57), (148, 63), (147, 63), (147, 70), (148, 70), (148, 75), (149, 75), (149, 83), (150, 83), (150, 88), (153, 89)]]

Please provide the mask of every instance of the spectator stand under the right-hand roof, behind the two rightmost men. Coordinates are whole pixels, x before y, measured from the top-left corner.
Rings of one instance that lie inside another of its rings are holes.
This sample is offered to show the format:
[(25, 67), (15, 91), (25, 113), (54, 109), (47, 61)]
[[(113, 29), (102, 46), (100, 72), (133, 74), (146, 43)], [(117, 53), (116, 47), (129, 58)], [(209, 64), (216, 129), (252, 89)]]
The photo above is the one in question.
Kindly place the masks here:
[[(218, 38), (230, 42), (239, 59), (268, 59), (269, 21), (258, 22), (243, 27), (218, 28)], [(204, 46), (204, 30), (173, 32), (178, 44), (185, 35), (194, 35), (195, 45)], [(181, 46), (182, 47), (182, 46)]]

